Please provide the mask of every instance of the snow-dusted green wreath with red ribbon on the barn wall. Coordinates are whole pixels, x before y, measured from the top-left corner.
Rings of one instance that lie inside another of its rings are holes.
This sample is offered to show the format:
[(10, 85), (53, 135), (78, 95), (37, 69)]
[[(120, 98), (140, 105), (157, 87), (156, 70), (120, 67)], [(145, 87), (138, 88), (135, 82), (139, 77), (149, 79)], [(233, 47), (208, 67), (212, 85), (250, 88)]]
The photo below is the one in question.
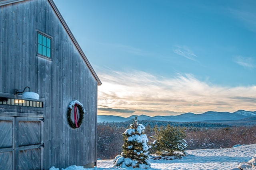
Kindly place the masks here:
[[(71, 119), (72, 107), (74, 107), (74, 122)], [(76, 107), (78, 108), (78, 111), (79, 111), (79, 119), (78, 119), (78, 113), (77, 113)], [(74, 129), (79, 128), (83, 122), (84, 113), (85, 113), (85, 109), (80, 102), (78, 102), (77, 100), (71, 101), (68, 105), (68, 124), (70, 125), (70, 127)]]

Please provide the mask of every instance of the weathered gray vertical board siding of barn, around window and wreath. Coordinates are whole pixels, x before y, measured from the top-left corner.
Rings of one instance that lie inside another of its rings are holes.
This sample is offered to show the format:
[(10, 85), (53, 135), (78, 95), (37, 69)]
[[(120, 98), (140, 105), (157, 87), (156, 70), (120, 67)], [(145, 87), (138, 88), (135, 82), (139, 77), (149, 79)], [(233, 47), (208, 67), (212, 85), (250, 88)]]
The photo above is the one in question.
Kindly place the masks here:
[[(0, 111), (43, 113), (44, 169), (96, 162), (98, 82), (50, 3), (27, 0), (1, 6), (0, 28), (0, 92), (13, 94), (30, 86), (45, 99), (44, 109), (1, 105)], [(38, 30), (52, 37), (51, 60), (37, 56)], [(86, 109), (79, 129), (67, 123), (72, 100)]]

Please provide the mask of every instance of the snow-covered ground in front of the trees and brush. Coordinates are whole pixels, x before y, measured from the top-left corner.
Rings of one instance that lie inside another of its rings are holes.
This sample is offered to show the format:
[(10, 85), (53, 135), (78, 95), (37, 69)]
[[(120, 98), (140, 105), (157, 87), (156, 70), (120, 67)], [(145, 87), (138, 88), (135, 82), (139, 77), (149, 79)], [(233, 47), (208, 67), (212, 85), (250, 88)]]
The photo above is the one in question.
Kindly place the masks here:
[[(256, 154), (256, 144), (225, 149), (187, 150), (188, 156), (174, 160), (152, 160), (149, 170), (230, 170), (240, 162), (248, 162)], [(82, 166), (70, 166), (65, 170), (125, 170), (113, 168), (113, 160), (98, 160), (97, 168), (84, 169)], [(128, 168), (129, 170), (142, 170)], [(51, 168), (50, 170), (57, 170)]]

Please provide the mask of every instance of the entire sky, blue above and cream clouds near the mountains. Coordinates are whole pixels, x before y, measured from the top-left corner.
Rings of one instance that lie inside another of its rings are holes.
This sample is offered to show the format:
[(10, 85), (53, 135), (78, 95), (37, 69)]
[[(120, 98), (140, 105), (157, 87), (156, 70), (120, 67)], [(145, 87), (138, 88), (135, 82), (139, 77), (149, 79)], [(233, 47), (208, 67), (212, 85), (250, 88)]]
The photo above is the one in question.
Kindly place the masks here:
[(98, 74), (98, 114), (256, 110), (256, 1), (54, 0)]

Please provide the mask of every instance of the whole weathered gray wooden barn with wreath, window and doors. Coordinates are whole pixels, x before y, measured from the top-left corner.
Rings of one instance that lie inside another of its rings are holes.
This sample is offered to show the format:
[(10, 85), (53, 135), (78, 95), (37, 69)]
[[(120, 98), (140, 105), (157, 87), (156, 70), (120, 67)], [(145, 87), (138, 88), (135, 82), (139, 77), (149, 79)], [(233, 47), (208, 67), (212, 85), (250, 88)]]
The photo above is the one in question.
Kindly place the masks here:
[(98, 85), (53, 0), (0, 0), (0, 170), (96, 165)]

